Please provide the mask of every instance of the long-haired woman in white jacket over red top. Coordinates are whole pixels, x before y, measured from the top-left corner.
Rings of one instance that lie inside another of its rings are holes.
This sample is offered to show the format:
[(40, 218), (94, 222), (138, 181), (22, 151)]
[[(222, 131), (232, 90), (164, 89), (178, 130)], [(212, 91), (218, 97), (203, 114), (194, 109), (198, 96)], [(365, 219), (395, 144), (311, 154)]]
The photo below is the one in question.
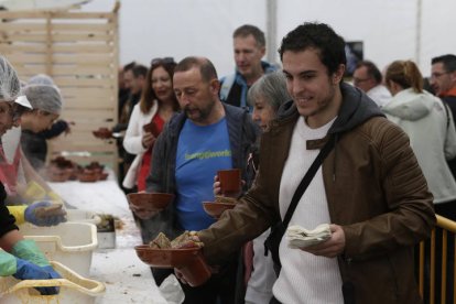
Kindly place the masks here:
[[(175, 66), (171, 57), (151, 62), (141, 100), (133, 108), (123, 139), (123, 148), (137, 154), (122, 183), (126, 188), (138, 186), (139, 192), (145, 191), (153, 143), (162, 132), (163, 124), (178, 110), (173, 90)], [(141, 217), (141, 210), (133, 211)]]

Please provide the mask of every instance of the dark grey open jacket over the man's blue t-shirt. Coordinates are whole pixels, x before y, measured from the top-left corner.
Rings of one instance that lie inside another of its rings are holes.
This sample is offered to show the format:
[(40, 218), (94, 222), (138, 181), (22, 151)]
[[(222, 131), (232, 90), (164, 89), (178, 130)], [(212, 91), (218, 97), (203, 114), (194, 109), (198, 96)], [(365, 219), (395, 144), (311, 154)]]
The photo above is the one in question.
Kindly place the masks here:
[[(260, 130), (246, 110), (226, 104), (224, 104), (224, 108), (232, 151), (232, 166), (242, 171), (242, 178), (245, 180), (247, 174), (247, 155), (256, 142)], [(177, 141), (185, 120), (185, 113), (175, 115), (156, 139), (152, 153), (151, 173), (146, 178), (148, 192), (176, 193), (175, 165)], [(143, 240), (153, 239), (160, 231), (171, 239), (178, 236), (183, 229), (176, 221), (174, 214), (175, 202), (156, 216), (149, 220), (143, 220)]]

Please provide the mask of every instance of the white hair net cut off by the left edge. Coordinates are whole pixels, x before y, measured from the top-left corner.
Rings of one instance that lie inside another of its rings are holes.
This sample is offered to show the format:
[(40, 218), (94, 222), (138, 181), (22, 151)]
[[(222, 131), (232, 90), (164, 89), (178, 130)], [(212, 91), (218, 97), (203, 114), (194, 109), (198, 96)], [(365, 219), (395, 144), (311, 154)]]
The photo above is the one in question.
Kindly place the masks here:
[(21, 95), (21, 83), (11, 64), (0, 55), (0, 99), (13, 101)]

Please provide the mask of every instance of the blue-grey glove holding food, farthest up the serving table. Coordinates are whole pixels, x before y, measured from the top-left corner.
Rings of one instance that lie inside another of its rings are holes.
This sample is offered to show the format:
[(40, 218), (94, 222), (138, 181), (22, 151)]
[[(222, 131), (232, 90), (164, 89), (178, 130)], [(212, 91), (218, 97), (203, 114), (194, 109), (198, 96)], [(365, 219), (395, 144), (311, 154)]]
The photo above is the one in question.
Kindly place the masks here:
[(59, 204), (35, 202), (24, 211), (25, 220), (36, 226), (55, 226), (66, 221), (66, 211)]

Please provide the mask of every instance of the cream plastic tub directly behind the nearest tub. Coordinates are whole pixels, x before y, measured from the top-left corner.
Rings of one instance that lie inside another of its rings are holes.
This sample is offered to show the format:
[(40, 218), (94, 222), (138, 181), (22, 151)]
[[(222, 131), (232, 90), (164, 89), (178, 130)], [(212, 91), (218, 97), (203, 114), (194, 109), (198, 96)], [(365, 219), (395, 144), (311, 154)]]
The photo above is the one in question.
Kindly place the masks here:
[(46, 258), (89, 276), (91, 253), (97, 248), (97, 227), (89, 222), (63, 222), (53, 227), (24, 224), (19, 227), (26, 239), (32, 239)]

